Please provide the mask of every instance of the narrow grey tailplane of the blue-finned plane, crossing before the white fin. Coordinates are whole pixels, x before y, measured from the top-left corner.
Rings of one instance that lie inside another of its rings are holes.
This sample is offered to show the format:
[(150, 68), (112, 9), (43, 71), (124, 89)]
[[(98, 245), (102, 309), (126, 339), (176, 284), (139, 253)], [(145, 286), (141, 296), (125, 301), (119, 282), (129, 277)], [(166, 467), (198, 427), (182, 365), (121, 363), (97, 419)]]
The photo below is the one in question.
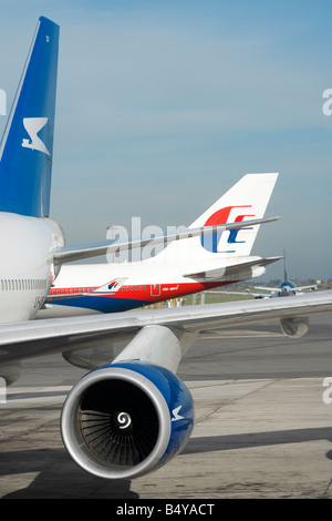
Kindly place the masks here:
[[(253, 221), (243, 221), (241, 225), (246, 226), (258, 226), (264, 223), (271, 223), (278, 221), (280, 217), (267, 217), (258, 218)], [(83, 258), (96, 257), (98, 255), (111, 254), (113, 252), (128, 251), (134, 248), (142, 248), (144, 246), (168, 243), (173, 241), (180, 241), (183, 238), (201, 236), (204, 234), (211, 234), (216, 232), (225, 232), (229, 229), (238, 229), (239, 223), (228, 223), (214, 226), (201, 226), (197, 228), (187, 228), (184, 232), (174, 234), (165, 234), (157, 237), (139, 238), (132, 241), (108, 241), (102, 243), (86, 244), (80, 246), (65, 246), (53, 252), (53, 259), (55, 264), (72, 263), (74, 260), (81, 260)]]

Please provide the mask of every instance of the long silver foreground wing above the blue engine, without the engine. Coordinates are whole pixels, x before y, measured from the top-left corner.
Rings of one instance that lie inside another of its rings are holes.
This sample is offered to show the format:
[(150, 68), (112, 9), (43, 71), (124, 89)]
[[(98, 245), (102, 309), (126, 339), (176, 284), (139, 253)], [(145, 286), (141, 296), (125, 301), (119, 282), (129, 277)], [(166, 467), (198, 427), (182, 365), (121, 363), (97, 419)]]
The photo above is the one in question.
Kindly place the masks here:
[[(305, 294), (303, 298), (241, 300), (3, 324), (0, 325), (0, 365), (48, 354), (82, 350), (84, 347), (105, 346), (107, 343), (131, 339), (149, 326), (170, 329), (181, 343), (186, 335), (198, 334), (203, 329), (330, 313), (332, 292), (328, 290)], [(143, 354), (142, 359), (154, 361), (154, 346), (149, 351)]]

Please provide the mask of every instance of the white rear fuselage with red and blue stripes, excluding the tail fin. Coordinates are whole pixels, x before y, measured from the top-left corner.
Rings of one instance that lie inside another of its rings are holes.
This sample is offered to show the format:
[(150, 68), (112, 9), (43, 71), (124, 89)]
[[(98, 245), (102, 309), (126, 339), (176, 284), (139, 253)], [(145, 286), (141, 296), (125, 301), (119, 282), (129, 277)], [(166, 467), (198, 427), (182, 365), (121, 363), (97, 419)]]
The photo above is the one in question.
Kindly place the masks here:
[[(247, 266), (256, 260), (257, 266)], [(159, 262), (159, 256), (135, 263), (63, 266), (48, 304), (37, 318), (125, 311), (181, 298), (264, 272), (260, 257), (215, 258), (185, 263)], [(228, 274), (228, 269), (230, 273)]]

